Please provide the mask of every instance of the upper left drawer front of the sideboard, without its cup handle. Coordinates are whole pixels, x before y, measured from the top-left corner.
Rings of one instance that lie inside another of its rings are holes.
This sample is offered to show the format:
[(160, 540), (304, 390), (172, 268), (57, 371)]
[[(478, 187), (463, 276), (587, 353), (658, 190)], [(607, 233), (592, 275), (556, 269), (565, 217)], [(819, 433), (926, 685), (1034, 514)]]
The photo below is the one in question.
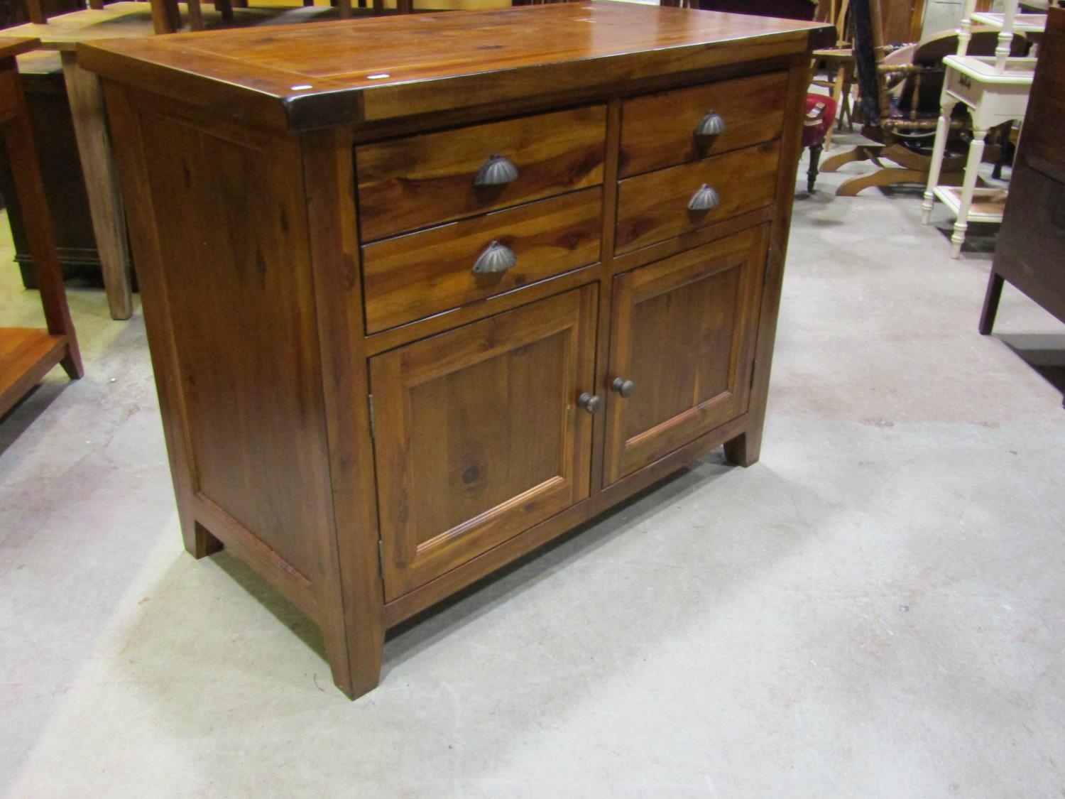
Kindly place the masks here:
[[(362, 240), (602, 183), (605, 137), (606, 108), (594, 105), (357, 147)], [(475, 184), (494, 156), (517, 176)]]

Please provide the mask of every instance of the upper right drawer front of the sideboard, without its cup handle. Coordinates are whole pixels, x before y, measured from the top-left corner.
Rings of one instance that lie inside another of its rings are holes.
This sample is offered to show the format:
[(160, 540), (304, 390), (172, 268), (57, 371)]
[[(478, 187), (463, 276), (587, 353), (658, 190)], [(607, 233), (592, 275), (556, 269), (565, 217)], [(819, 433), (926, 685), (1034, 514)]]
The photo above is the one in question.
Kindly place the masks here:
[[(619, 175), (642, 175), (777, 138), (787, 87), (787, 72), (771, 72), (626, 100)], [(724, 130), (698, 135), (710, 112)]]

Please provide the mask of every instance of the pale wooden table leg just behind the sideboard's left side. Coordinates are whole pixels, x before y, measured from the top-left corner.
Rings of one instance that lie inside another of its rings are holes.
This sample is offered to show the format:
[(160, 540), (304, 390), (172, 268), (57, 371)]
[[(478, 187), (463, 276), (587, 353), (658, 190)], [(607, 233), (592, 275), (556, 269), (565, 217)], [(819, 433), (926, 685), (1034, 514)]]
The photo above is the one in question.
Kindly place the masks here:
[(73, 117), (78, 154), (85, 175), (96, 247), (103, 266), (103, 288), (108, 293), (108, 305), (111, 307), (112, 319), (129, 319), (133, 314), (129, 242), (126, 238), (121, 192), (108, 136), (103, 93), (99, 78), (78, 65), (76, 53), (64, 51), (62, 56), (63, 78)]

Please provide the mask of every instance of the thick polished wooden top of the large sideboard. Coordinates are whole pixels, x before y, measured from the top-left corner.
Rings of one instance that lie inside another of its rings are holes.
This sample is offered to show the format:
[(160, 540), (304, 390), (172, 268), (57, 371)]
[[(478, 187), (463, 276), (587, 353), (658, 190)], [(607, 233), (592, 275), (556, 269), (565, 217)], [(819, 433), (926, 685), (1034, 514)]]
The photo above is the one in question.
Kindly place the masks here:
[(110, 80), (290, 131), (359, 125), (796, 54), (813, 22), (624, 2), (83, 43)]

